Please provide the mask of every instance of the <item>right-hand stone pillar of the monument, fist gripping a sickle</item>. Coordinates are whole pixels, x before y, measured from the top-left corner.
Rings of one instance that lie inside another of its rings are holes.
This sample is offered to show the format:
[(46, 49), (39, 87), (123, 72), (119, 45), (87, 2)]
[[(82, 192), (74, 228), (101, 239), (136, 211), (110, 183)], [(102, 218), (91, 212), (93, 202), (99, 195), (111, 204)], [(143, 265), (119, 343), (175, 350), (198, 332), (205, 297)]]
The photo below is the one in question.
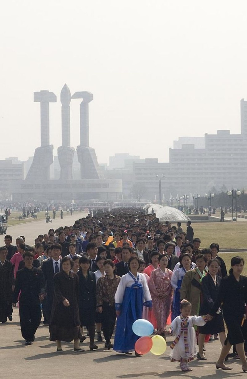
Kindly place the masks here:
[(105, 179), (95, 150), (89, 147), (89, 103), (93, 100), (93, 94), (86, 91), (75, 92), (71, 99), (83, 99), (80, 104), (80, 144), (76, 148), (81, 164), (81, 179)]

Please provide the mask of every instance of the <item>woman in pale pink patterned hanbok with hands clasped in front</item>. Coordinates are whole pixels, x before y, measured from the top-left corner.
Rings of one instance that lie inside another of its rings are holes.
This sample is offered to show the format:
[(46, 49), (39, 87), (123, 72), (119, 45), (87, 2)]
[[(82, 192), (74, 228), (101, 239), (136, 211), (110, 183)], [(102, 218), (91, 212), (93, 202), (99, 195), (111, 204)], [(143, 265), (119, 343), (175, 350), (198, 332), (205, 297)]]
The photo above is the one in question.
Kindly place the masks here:
[(149, 290), (153, 302), (154, 315), (157, 320), (158, 334), (165, 337), (166, 322), (171, 311), (172, 291), (171, 277), (172, 271), (166, 268), (168, 257), (166, 254), (160, 255), (159, 267), (152, 271), (149, 279)]

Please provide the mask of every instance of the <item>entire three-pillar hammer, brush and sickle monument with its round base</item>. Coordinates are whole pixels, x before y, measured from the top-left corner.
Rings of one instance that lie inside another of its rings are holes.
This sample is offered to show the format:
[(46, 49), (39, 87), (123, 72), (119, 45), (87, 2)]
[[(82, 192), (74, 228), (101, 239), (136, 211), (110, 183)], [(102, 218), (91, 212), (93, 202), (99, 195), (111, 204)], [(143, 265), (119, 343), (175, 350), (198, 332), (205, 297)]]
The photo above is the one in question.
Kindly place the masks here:
[[(70, 146), (70, 101), (83, 99), (80, 104), (80, 144), (77, 146), (81, 164), (81, 179), (73, 179), (74, 148)], [(49, 168), (53, 161), (53, 146), (49, 143), (49, 103), (56, 102), (54, 93), (34, 92), (34, 101), (40, 102), (41, 146), (35, 149), (32, 165), (25, 180), (13, 183), (14, 201), (36, 199), (45, 202), (85, 201), (114, 202), (122, 197), (122, 180), (105, 179), (97, 161), (95, 150), (89, 147), (89, 102), (90, 92), (75, 92), (71, 97), (65, 84), (60, 94), (62, 103), (62, 146), (57, 149), (61, 167), (60, 179), (50, 179)]]

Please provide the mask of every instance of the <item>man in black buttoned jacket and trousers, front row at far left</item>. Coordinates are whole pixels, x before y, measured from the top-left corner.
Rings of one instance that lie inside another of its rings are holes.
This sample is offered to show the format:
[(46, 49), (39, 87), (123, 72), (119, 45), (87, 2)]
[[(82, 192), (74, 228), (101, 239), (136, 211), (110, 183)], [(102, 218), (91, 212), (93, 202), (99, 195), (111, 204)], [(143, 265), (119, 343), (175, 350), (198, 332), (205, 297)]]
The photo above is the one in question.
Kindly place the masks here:
[(21, 334), (25, 345), (32, 345), (35, 332), (40, 325), (40, 301), (44, 299), (44, 276), (40, 269), (33, 267), (33, 253), (23, 254), (25, 267), (16, 273), (16, 284), (13, 296), (13, 307), (19, 298), (19, 315)]

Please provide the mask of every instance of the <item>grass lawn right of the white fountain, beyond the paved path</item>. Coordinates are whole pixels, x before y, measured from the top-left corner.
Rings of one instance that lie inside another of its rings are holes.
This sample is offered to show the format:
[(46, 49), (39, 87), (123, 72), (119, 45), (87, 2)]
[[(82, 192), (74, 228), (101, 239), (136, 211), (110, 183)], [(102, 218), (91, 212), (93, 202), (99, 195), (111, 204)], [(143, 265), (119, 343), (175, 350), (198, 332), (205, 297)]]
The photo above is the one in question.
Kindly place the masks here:
[[(183, 225), (182, 225), (183, 227)], [(209, 247), (213, 242), (220, 249), (247, 248), (247, 222), (197, 222), (193, 223), (194, 237), (201, 239), (201, 247)], [(186, 229), (183, 228), (186, 232)]]

